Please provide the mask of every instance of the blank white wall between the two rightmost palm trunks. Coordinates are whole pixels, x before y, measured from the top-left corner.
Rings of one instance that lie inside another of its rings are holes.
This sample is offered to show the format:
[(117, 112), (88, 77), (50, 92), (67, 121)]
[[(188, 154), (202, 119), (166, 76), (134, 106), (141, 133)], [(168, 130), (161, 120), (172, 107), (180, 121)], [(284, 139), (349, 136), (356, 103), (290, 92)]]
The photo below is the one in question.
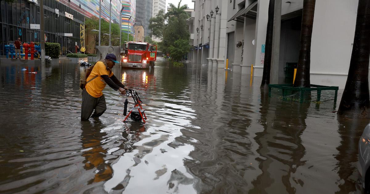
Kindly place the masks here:
[(316, 1), (311, 42), (312, 84), (344, 88), (351, 59), (357, 5), (358, 1), (355, 0)]

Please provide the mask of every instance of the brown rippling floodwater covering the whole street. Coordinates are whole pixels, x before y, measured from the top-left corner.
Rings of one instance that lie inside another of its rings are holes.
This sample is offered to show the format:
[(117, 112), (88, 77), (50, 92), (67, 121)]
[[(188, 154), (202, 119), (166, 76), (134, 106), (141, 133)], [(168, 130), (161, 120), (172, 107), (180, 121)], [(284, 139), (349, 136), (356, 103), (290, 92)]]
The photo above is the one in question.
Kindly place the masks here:
[(223, 69), (117, 65), (147, 123), (122, 122), (126, 97), (108, 86), (107, 111), (81, 122), (84, 69), (0, 64), (0, 193), (363, 192), (357, 143), (367, 120), (333, 113), (342, 91), (336, 104), (300, 104)]

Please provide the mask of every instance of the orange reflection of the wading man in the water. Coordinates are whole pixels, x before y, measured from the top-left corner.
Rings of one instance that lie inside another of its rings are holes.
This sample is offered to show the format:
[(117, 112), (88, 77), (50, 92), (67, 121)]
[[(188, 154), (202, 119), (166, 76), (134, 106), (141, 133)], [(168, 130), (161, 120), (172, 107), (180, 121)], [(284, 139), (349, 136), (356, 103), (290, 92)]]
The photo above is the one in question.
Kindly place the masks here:
[(92, 170), (95, 168), (94, 173), (95, 176), (90, 181), (91, 183), (97, 183), (100, 181), (107, 181), (112, 178), (113, 170), (112, 167), (105, 163), (104, 157), (106, 157), (106, 150), (102, 147), (101, 141), (105, 135), (104, 132), (100, 132), (104, 126), (101, 122), (95, 123), (92, 125), (91, 122), (83, 122), (82, 123), (82, 147), (83, 149), (88, 149), (83, 152), (83, 157), (85, 160), (83, 163), (85, 164), (85, 170)]

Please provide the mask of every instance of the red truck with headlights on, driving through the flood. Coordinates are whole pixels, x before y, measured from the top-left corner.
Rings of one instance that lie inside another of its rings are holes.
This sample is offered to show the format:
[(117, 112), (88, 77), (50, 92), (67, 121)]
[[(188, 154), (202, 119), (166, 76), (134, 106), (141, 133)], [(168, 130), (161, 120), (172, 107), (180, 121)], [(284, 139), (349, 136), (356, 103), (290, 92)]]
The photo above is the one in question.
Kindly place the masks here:
[(130, 41), (125, 44), (125, 56), (121, 58), (121, 67), (154, 68), (155, 60), (157, 60), (157, 45)]

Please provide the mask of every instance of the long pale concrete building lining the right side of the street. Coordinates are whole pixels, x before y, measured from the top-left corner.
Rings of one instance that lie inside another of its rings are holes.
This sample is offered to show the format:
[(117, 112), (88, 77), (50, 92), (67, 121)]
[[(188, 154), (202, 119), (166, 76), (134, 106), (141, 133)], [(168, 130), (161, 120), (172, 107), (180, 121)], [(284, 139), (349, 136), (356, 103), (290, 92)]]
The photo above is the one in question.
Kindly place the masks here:
[[(195, 3), (193, 27), (189, 27), (194, 46), (192, 61), (225, 68), (228, 59), (228, 68), (240, 73), (250, 73), (253, 64), (253, 75), (262, 76), (269, 1), (192, 1)], [(310, 64), (312, 84), (344, 88), (357, 5), (357, 0), (316, 1)], [(275, 3), (275, 13), (281, 10), (275, 18), (281, 22), (275, 22), (274, 26), (270, 83), (292, 82), (292, 69), (299, 57), (302, 8), (303, 0)]]

